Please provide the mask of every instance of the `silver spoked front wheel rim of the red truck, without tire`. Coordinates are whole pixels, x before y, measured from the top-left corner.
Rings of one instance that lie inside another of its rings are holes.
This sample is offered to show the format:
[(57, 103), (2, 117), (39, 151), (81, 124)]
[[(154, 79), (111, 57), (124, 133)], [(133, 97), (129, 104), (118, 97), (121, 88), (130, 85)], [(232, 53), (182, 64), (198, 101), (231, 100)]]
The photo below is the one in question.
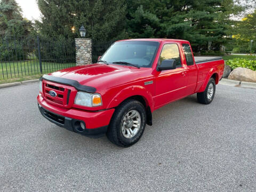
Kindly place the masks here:
[(130, 110), (123, 118), (122, 133), (125, 138), (134, 137), (140, 129), (141, 117), (137, 110)]

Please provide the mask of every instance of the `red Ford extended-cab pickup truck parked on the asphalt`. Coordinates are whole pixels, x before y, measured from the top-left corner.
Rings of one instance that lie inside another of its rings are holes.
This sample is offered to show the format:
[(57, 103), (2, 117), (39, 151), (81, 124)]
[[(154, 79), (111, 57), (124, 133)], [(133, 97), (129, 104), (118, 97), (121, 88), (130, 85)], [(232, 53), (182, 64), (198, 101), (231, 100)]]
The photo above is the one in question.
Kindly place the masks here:
[(117, 41), (97, 63), (44, 75), (38, 108), (50, 122), (129, 147), (152, 125), (154, 110), (197, 93), (209, 104), (222, 78), (220, 57), (195, 57), (178, 39)]

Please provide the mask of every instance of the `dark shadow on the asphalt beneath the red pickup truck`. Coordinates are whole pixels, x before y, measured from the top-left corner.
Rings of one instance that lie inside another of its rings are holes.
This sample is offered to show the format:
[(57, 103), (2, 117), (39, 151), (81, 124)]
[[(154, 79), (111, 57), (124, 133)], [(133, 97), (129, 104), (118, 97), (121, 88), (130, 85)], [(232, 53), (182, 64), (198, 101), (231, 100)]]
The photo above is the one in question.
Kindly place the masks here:
[[(162, 122), (165, 122), (166, 119), (172, 119), (172, 118), (179, 118), (183, 115), (184, 111), (190, 107), (194, 107), (195, 105), (198, 106), (196, 95), (190, 95), (187, 98), (169, 103), (168, 105), (157, 109), (153, 113), (153, 126), (146, 126), (146, 130), (144, 134), (155, 134), (159, 131), (159, 124), (162, 124)], [(175, 127), (175, 125), (174, 125)], [(170, 127), (170, 129), (173, 129), (173, 125)], [(119, 150), (125, 150), (128, 148), (122, 148), (114, 145), (111, 143), (106, 135), (103, 135), (99, 138), (89, 138), (85, 135), (78, 134), (69, 130), (66, 130), (62, 127), (59, 127), (57, 125), (50, 126), (50, 129), (47, 129), (46, 133), (47, 135), (51, 134), (51, 137), (53, 140), (58, 141), (59, 146), (68, 146), (70, 149), (74, 150), (84, 150), (87, 151), (90, 154), (94, 154), (95, 152), (100, 152), (102, 150), (111, 150), (113, 151), (119, 151)], [(51, 132), (51, 133), (50, 133)], [(139, 143), (144, 142), (143, 139), (145, 135), (142, 136), (141, 140), (138, 144), (131, 146), (129, 148), (138, 147), (140, 145)], [(55, 145), (55, 144), (53, 144)], [(102, 154), (103, 155), (103, 154)]]

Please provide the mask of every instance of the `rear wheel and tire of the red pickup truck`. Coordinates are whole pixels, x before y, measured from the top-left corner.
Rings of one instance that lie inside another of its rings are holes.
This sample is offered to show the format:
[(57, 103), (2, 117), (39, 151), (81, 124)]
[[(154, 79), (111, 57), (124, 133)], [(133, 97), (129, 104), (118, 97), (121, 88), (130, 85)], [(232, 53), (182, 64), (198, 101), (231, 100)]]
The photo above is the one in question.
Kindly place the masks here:
[(204, 92), (197, 93), (197, 101), (202, 104), (210, 104), (214, 98), (216, 90), (214, 78), (210, 78)]

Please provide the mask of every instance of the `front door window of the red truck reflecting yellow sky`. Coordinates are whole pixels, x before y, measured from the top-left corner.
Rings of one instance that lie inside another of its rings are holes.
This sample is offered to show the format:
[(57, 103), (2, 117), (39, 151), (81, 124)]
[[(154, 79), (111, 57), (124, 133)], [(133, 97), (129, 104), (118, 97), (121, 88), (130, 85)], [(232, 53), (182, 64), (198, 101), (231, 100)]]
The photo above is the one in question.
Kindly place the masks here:
[(159, 58), (159, 65), (161, 65), (162, 61), (165, 59), (174, 59), (176, 60), (176, 66), (181, 67), (180, 52), (177, 44), (164, 45)]

